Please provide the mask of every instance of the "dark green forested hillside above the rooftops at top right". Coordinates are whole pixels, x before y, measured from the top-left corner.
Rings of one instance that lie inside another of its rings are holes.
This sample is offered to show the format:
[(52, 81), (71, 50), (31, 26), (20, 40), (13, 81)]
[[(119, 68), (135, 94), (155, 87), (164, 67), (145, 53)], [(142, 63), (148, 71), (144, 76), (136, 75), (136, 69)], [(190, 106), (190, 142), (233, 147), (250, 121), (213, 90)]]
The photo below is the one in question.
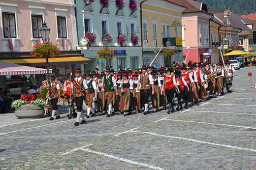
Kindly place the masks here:
[(196, 0), (204, 2), (207, 7), (215, 12), (224, 12), (229, 9), (239, 15), (256, 12), (256, 0)]

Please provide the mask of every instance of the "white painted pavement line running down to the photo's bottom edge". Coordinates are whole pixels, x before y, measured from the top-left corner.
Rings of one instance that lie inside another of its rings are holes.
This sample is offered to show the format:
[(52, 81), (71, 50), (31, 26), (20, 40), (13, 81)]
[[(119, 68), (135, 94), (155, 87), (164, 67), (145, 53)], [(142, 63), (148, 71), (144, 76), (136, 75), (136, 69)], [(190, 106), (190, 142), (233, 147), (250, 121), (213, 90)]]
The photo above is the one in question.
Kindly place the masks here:
[(140, 162), (136, 162), (136, 161), (131, 161), (131, 160), (128, 160), (128, 159), (125, 159), (125, 158), (120, 158), (120, 157), (117, 157), (117, 156), (114, 156), (114, 155), (109, 155), (109, 154), (103, 153), (103, 152), (97, 152), (97, 151), (86, 149), (86, 148), (81, 148), (81, 150), (86, 151), (86, 152), (90, 152), (90, 153), (94, 153), (94, 154), (98, 154), (98, 155), (103, 155), (103, 156), (106, 156), (106, 157), (109, 157), (109, 158), (112, 158), (112, 159), (116, 159), (116, 160), (119, 160), (119, 161), (124, 161), (124, 162), (127, 162), (129, 164), (140, 165), (140, 166), (147, 167), (147, 168), (150, 168), (150, 169), (153, 169), (153, 170), (164, 170), (163, 168), (160, 168), (160, 167), (155, 167), (155, 166), (152, 166), (152, 165), (148, 165), (148, 164), (144, 164), (144, 163), (140, 163)]

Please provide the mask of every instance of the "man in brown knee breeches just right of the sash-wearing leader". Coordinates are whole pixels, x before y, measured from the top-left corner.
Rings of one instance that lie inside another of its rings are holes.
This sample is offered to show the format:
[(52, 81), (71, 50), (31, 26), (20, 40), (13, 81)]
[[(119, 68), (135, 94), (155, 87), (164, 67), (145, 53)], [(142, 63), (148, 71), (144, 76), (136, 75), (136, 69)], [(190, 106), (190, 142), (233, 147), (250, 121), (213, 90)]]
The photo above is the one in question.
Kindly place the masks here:
[(91, 74), (86, 75), (86, 83), (88, 86), (89, 94), (86, 94), (87, 101), (87, 115), (86, 118), (90, 118), (90, 113), (92, 111), (92, 117), (95, 116), (95, 111), (93, 108), (93, 102), (97, 99), (97, 85), (96, 82), (92, 79)]

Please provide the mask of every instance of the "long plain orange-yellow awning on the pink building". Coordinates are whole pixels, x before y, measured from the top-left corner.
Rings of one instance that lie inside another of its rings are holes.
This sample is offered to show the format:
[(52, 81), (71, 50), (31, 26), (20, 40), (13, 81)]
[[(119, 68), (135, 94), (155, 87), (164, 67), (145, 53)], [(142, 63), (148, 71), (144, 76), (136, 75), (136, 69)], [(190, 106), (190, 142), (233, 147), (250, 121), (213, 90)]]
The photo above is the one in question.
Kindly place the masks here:
[[(22, 59), (1, 59), (5, 62), (15, 63), (15, 64), (30, 64), (30, 63), (46, 63), (45, 58), (22, 58)], [(85, 61), (91, 61), (91, 59), (85, 57), (55, 57), (49, 58), (49, 63), (51, 62), (79, 62), (84, 63)]]

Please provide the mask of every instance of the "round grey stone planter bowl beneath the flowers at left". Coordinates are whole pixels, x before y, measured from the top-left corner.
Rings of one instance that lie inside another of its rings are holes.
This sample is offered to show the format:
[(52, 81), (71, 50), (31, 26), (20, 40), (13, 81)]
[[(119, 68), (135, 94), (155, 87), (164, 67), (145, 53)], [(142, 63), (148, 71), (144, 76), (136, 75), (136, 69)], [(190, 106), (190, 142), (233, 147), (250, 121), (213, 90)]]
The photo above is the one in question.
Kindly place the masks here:
[(27, 104), (16, 109), (15, 115), (19, 118), (41, 118), (44, 115), (44, 110), (40, 106)]

